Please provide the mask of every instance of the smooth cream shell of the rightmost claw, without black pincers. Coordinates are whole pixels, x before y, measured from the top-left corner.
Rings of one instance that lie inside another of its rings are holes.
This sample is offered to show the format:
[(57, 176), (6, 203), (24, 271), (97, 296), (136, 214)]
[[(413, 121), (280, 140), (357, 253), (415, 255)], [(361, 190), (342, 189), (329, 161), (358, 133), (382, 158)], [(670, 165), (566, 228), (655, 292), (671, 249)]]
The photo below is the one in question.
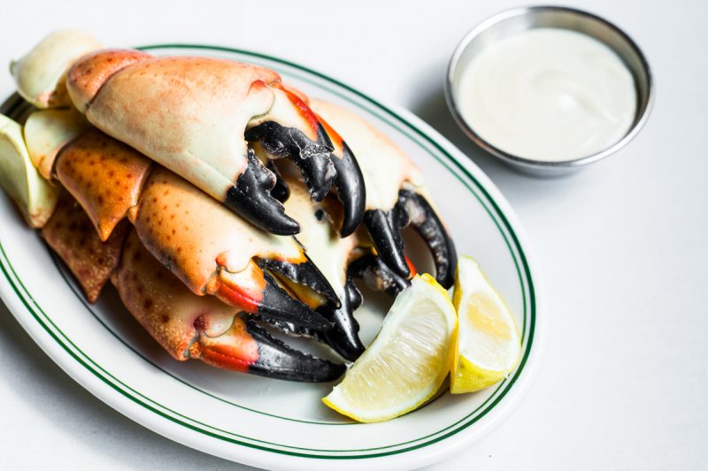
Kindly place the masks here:
[(421, 191), (424, 181), (418, 168), (381, 131), (334, 103), (312, 99), (310, 107), (337, 130), (357, 156), (366, 185), (366, 209), (393, 209), (398, 201), (398, 190), (404, 186), (427, 197)]

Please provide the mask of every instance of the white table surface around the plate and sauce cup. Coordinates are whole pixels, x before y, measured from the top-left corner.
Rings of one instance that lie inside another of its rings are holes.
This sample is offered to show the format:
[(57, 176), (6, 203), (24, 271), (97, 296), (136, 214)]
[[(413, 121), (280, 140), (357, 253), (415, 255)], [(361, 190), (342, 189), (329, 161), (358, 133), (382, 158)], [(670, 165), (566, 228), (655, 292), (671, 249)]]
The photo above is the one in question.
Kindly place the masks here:
[[(83, 27), (112, 45), (204, 42), (287, 57), (412, 110), (516, 209), (546, 282), (543, 364), (506, 422), (429, 469), (708, 467), (707, 2), (566, 2), (625, 28), (649, 58), (658, 92), (635, 141), (566, 179), (526, 177), (484, 155), (443, 102), (459, 39), (517, 2), (167, 4), (2, 0), (0, 63), (58, 27)], [(12, 91), (4, 70), (3, 96)], [(246, 469), (105, 406), (2, 304), (0, 351), (2, 469)]]

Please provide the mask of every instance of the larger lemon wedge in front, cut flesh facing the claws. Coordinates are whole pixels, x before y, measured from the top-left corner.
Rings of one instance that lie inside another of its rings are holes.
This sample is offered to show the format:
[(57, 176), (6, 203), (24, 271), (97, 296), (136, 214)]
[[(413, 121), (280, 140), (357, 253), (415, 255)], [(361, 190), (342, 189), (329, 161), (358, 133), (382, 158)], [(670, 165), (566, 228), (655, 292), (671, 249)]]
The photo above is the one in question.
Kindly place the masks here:
[(383, 422), (416, 409), (438, 391), (452, 364), (457, 315), (430, 275), (400, 292), (379, 335), (322, 399), (358, 422)]

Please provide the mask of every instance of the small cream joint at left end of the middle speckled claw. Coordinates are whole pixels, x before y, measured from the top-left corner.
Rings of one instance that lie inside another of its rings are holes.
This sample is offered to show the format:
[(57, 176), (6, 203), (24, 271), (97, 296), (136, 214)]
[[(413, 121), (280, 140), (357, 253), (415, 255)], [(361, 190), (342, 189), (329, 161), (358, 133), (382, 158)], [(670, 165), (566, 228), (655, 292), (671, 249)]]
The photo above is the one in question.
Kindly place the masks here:
[(67, 142), (89, 129), (89, 123), (73, 108), (36, 110), (25, 122), (29, 158), (44, 179), (51, 179), (54, 160)]

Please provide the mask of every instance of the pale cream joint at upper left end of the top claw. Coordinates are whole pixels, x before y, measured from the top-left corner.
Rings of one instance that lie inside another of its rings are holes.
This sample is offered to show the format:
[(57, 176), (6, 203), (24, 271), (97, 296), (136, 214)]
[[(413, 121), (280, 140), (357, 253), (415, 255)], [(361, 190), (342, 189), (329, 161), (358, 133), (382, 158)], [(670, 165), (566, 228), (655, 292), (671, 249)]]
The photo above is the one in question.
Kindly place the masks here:
[(101, 47), (96, 38), (79, 29), (49, 34), (10, 65), (19, 95), (37, 108), (69, 104), (63, 80), (66, 70), (74, 60)]

